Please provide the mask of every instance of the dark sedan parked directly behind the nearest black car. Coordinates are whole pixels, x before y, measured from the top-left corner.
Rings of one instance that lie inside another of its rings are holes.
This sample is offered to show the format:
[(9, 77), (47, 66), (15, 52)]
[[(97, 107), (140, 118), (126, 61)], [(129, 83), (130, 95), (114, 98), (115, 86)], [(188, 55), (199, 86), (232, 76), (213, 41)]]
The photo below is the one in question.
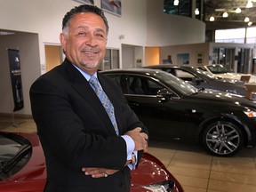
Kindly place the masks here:
[(248, 96), (244, 82), (237, 81), (235, 82), (232, 79), (218, 78), (210, 74), (207, 71), (201, 70), (200, 68), (194, 68), (191, 66), (177, 66), (172, 64), (162, 64), (147, 66), (143, 68), (154, 68), (164, 70), (168, 73), (171, 73), (173, 76), (177, 76), (188, 84), (192, 84), (197, 88), (213, 89), (219, 90), (222, 92), (231, 92), (234, 94), (240, 94), (244, 97)]

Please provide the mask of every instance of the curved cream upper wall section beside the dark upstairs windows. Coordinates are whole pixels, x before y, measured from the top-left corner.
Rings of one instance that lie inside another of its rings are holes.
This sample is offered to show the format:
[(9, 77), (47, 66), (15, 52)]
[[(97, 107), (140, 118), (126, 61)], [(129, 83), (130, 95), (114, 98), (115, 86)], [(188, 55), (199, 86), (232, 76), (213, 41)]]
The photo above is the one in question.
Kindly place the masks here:
[(204, 22), (165, 14), (164, 0), (147, 0), (147, 7), (147, 46), (204, 43)]

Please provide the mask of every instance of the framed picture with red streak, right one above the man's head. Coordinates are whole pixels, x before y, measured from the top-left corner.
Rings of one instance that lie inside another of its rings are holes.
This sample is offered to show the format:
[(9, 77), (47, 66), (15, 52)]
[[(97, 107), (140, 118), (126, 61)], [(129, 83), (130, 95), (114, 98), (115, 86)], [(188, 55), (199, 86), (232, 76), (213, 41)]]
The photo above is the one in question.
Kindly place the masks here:
[(105, 12), (121, 16), (122, 13), (122, 4), (121, 0), (101, 0), (101, 9)]

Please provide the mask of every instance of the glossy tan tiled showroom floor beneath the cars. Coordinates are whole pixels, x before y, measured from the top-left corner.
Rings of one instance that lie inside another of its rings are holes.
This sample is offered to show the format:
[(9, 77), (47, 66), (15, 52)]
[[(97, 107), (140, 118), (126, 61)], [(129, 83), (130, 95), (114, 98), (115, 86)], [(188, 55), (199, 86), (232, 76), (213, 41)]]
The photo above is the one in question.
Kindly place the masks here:
[[(29, 118), (0, 116), (1, 129), (29, 132), (35, 124)], [(149, 141), (148, 145), (148, 152), (164, 163), (185, 192), (256, 191), (256, 148), (243, 148), (236, 156), (223, 158), (204, 153), (197, 144)]]

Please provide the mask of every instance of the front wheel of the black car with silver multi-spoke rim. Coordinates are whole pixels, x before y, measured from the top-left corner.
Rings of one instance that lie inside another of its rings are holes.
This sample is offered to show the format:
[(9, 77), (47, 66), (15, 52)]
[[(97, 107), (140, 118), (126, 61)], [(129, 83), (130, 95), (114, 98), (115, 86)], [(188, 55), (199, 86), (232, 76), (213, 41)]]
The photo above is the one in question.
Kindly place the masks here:
[(227, 121), (209, 124), (201, 140), (205, 150), (214, 156), (233, 156), (244, 146), (241, 129)]

